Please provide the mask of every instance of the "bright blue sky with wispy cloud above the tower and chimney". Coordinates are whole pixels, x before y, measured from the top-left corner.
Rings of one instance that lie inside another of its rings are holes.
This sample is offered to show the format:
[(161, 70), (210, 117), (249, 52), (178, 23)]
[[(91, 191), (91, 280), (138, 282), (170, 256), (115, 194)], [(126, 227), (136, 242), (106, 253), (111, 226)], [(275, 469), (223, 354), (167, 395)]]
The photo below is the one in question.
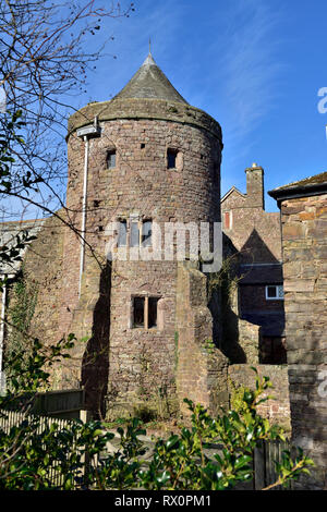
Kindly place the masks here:
[[(232, 185), (245, 192), (244, 169), (254, 161), (265, 169), (266, 191), (327, 170), (327, 113), (317, 109), (327, 87), (326, 0), (134, 3), (129, 19), (106, 22), (114, 40), (76, 107), (114, 96), (144, 61), (150, 37), (179, 93), (221, 124), (222, 194)], [(267, 194), (266, 209), (277, 210)]]

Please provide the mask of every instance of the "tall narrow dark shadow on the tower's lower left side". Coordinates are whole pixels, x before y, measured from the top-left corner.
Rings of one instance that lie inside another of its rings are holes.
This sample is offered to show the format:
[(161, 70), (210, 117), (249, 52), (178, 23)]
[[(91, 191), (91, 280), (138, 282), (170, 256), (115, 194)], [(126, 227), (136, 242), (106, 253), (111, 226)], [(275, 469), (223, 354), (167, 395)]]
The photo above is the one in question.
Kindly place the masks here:
[(99, 298), (94, 308), (92, 338), (82, 362), (82, 386), (86, 409), (95, 417), (106, 415), (105, 397), (109, 376), (111, 264), (107, 261), (100, 275)]

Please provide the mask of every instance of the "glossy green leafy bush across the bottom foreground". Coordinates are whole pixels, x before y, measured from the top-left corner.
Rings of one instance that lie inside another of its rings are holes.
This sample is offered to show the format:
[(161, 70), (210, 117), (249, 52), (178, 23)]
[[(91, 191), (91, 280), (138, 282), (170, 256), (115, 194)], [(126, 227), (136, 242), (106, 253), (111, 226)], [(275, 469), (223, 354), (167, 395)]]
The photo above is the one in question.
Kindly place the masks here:
[[(255, 447), (262, 441), (284, 440), (280, 428), (257, 414), (257, 405), (268, 400), (271, 382), (256, 376), (255, 390), (244, 390), (242, 413), (221, 411), (213, 417), (203, 405), (185, 400), (191, 426), (168, 439), (156, 438), (150, 454), (140, 439), (146, 430), (137, 418), (117, 429), (119, 447), (108, 453), (107, 443), (114, 434), (106, 431), (100, 422), (73, 420), (60, 427), (59, 422), (44, 423), (28, 414), (37, 389), (48, 383), (44, 367), (70, 357), (66, 351), (73, 344), (73, 336), (48, 349), (34, 340), (27, 366), (21, 367), (17, 355), (11, 362), (11, 386), (0, 398), (1, 414), (17, 406), (26, 414), (10, 431), (0, 416), (0, 489), (232, 489), (253, 478)], [(213, 443), (217, 450), (209, 455), (207, 448)], [(295, 456), (286, 451), (276, 463), (277, 480), (268, 488), (286, 486), (312, 465), (301, 450)]]

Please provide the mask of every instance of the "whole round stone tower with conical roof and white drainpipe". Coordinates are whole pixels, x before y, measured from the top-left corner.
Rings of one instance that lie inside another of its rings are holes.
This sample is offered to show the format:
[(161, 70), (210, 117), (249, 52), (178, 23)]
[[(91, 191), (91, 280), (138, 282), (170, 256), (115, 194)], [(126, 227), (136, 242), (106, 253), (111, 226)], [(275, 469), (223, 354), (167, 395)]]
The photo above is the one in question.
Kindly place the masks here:
[(112, 100), (70, 118), (66, 206), (76, 232), (64, 239), (61, 327), (88, 341), (64, 378), (82, 381), (90, 409), (105, 398), (111, 416), (160, 400), (172, 412), (183, 395), (217, 400), (226, 361), (205, 349), (205, 276), (192, 261), (137, 254), (152, 253), (154, 224), (164, 233), (165, 223), (220, 221), (221, 149), (220, 125), (181, 97), (150, 53)]

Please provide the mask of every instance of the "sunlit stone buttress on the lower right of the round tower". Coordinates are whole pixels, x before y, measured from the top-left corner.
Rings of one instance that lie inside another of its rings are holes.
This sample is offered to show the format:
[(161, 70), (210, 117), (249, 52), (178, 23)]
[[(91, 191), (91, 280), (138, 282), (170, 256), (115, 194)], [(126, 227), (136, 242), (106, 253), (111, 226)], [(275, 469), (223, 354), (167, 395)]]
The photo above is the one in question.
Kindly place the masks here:
[(177, 290), (177, 389), (180, 410), (183, 399), (202, 403), (215, 414), (228, 405), (228, 359), (213, 343), (213, 320), (207, 307), (206, 277), (180, 264)]

